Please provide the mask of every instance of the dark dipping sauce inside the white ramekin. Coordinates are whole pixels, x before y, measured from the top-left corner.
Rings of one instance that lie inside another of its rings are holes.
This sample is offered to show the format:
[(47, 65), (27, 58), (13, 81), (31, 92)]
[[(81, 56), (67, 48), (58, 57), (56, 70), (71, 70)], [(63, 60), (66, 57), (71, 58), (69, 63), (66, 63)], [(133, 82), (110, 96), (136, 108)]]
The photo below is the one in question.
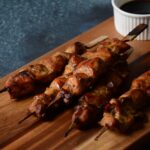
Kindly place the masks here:
[(122, 5), (120, 8), (133, 14), (150, 14), (150, 1), (130, 1)]

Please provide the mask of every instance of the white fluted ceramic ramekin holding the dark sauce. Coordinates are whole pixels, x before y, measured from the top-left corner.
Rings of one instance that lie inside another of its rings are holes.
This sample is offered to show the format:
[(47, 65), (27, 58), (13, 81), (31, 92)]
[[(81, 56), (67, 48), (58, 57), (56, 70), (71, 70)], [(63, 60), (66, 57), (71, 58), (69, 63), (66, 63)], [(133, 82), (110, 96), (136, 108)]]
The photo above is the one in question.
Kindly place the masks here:
[(114, 10), (114, 23), (117, 32), (127, 35), (134, 27), (140, 23), (148, 24), (148, 29), (142, 32), (137, 40), (150, 40), (150, 14), (133, 14), (120, 9), (120, 7), (133, 0), (112, 0)]

